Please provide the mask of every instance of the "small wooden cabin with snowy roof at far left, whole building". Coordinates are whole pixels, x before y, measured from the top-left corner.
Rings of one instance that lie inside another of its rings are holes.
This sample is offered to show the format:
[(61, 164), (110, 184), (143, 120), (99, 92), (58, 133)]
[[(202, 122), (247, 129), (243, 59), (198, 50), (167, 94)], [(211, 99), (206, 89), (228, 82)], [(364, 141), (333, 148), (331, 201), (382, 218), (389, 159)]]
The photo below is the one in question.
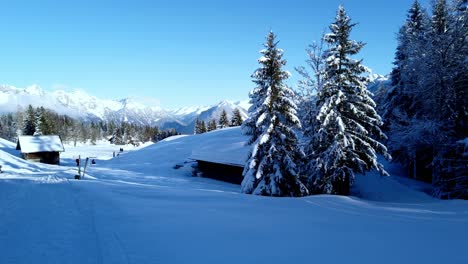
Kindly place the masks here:
[(20, 136), (16, 149), (25, 160), (60, 165), (60, 152), (64, 152), (59, 136)]

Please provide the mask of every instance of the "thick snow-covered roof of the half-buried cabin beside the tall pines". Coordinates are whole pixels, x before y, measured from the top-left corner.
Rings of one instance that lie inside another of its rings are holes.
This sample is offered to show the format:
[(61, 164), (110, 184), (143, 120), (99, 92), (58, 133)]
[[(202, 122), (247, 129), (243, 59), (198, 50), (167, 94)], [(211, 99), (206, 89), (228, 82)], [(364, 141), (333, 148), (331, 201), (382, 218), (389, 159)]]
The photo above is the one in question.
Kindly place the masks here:
[(225, 128), (198, 135), (200, 148), (192, 151), (191, 159), (244, 167), (250, 146), (240, 127)]

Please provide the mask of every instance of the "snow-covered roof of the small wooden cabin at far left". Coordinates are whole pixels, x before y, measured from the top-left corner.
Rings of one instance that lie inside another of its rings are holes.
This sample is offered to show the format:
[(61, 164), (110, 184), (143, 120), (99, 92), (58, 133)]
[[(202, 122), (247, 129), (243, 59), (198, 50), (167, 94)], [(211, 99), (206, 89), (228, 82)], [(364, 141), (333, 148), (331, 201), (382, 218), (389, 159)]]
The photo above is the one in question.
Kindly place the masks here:
[(65, 151), (59, 136), (20, 136), (16, 149), (22, 153)]

